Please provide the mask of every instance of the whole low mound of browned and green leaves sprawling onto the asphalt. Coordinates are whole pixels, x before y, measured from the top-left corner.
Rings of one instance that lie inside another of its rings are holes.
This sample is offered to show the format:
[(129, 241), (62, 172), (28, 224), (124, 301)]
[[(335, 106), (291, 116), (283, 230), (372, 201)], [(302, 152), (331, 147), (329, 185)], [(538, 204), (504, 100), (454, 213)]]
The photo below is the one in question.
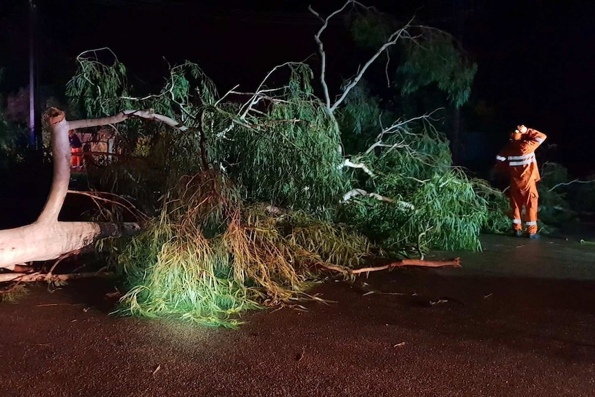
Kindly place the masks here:
[(315, 264), (370, 253), (346, 226), (243, 207), (222, 175), (182, 180), (169, 197), (117, 258), (130, 284), (120, 313), (235, 327), (242, 311), (308, 297)]

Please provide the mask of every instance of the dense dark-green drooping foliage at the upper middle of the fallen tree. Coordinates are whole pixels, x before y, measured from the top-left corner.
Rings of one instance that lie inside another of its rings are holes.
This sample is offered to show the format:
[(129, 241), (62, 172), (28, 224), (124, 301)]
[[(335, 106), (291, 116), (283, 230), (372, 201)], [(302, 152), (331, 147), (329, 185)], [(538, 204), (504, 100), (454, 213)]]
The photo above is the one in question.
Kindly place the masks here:
[(248, 201), (271, 202), (322, 214), (335, 207), (348, 186), (338, 167), (340, 135), (335, 120), (311, 95), (311, 70), (294, 68), (289, 88), (266, 114), (249, 119), (228, 136), (231, 175)]

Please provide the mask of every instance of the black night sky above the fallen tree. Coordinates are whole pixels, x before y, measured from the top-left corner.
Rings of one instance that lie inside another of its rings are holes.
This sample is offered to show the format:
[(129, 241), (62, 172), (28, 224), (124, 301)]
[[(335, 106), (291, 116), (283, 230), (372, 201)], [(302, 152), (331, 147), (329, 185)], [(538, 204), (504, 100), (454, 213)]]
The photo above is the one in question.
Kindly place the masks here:
[[(111, 48), (139, 84), (160, 84), (168, 62), (197, 62), (221, 92), (251, 90), (273, 66), (316, 52), (320, 23), (336, 0), (37, 0), (40, 84), (57, 94), (79, 52)], [(574, 173), (595, 172), (595, 1), (364, 1), (398, 16), (413, 12), (456, 35), (478, 63), (471, 105), (496, 124), (527, 124), (556, 144), (551, 159)], [(458, 10), (465, 10), (457, 19)], [(28, 1), (0, 0), (1, 89), (27, 86)], [(457, 23), (461, 21), (461, 23)], [(342, 50), (331, 26), (329, 57)], [(335, 39), (331, 39), (335, 37)], [(324, 37), (323, 37), (324, 39)], [(332, 70), (331, 70), (332, 72)], [(340, 75), (340, 72), (338, 72)], [(347, 77), (345, 75), (344, 77)], [(50, 89), (50, 88), (48, 88)], [(474, 128), (471, 126), (469, 128)], [(507, 130), (502, 131), (503, 142)], [(494, 147), (493, 152), (499, 147)], [(488, 150), (489, 152), (490, 150)], [(486, 153), (491, 156), (493, 153)]]

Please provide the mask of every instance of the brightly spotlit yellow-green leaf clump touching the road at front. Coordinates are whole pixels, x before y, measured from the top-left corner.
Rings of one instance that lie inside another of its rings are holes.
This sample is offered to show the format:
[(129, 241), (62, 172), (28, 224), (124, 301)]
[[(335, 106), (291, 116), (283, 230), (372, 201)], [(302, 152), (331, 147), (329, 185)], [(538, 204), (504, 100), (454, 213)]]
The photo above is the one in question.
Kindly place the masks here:
[(159, 223), (128, 244), (119, 258), (131, 287), (121, 313), (234, 327), (231, 317), (256, 307), (230, 280), (221, 240), (188, 237)]

